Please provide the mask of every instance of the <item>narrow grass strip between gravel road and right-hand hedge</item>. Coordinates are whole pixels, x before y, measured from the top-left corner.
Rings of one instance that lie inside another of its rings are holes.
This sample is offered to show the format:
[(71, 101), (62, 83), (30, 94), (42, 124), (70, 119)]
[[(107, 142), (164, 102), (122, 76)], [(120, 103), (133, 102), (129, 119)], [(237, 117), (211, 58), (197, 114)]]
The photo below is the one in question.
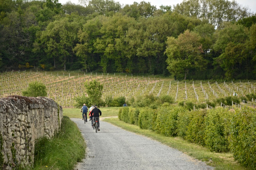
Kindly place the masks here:
[[(169, 147), (178, 149), (193, 158), (206, 161), (210, 166), (215, 167), (217, 170), (244, 170), (238, 162), (234, 161), (232, 153), (216, 153), (211, 152), (209, 149), (200, 145), (189, 143), (180, 137), (165, 137), (154, 131), (147, 129), (140, 129), (136, 125), (131, 125), (120, 121), (118, 118), (104, 119), (104, 121), (112, 123), (122, 129), (150, 137), (156, 141), (168, 145)], [(212, 158), (212, 159), (210, 159)]]

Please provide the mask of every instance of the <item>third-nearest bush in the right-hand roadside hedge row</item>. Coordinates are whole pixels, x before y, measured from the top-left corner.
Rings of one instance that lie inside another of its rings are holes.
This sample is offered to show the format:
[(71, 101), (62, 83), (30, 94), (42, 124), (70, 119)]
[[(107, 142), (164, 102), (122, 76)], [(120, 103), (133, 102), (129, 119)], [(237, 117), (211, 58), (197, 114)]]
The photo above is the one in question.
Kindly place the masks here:
[(191, 119), (188, 123), (185, 139), (204, 146), (204, 116), (205, 110), (191, 111)]

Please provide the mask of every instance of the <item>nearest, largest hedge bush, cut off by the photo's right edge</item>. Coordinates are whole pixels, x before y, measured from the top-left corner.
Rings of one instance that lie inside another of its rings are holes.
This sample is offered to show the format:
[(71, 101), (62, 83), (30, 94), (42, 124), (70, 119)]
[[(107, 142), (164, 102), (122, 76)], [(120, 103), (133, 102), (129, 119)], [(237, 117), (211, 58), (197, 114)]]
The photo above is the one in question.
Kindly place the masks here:
[(230, 149), (235, 160), (256, 169), (256, 111), (243, 107), (233, 114), (230, 130)]

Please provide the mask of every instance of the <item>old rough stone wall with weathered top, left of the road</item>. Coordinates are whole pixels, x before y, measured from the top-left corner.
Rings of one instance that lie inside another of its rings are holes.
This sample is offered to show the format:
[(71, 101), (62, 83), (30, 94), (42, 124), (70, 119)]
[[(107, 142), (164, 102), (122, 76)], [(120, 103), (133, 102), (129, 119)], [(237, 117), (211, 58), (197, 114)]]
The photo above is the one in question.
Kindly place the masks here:
[(45, 97), (0, 98), (0, 169), (34, 164), (34, 143), (60, 129), (62, 107)]

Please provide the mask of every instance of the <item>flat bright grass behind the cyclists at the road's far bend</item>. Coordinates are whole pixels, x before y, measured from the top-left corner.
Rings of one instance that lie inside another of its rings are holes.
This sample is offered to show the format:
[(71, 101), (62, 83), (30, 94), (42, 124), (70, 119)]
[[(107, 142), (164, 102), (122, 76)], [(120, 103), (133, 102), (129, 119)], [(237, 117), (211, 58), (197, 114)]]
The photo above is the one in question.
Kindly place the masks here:
[[(99, 109), (102, 112), (101, 117), (112, 117), (112, 116), (118, 116), (118, 111), (120, 107), (99, 107)], [(63, 108), (63, 115), (68, 116), (70, 118), (82, 119), (81, 109), (77, 109), (77, 108)], [(87, 113), (87, 116), (88, 116), (88, 113)]]

